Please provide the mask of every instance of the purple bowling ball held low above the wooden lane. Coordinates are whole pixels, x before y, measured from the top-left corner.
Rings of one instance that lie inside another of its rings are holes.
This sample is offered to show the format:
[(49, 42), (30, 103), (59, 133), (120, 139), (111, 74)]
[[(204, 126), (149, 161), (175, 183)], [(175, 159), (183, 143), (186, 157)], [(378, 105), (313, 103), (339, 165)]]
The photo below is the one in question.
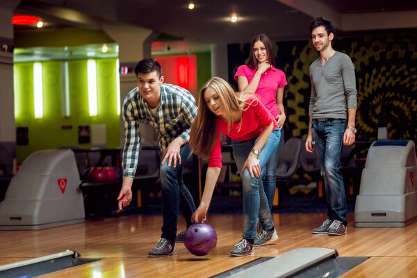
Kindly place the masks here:
[(184, 245), (195, 256), (204, 256), (210, 253), (216, 243), (217, 234), (209, 224), (193, 224), (188, 227), (184, 235)]

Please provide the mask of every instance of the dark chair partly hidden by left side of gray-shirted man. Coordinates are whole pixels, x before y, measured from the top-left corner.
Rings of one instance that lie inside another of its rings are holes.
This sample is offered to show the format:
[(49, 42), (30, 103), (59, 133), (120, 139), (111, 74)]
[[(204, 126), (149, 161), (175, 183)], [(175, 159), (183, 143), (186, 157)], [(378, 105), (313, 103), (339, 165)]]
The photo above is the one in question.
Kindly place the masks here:
[(317, 183), (318, 197), (323, 197), (323, 181), (320, 174), (320, 164), (318, 163), (316, 150), (314, 152), (306, 151), (306, 139), (301, 139), (301, 152), (300, 152), (300, 166), (306, 174), (311, 177), (311, 181)]

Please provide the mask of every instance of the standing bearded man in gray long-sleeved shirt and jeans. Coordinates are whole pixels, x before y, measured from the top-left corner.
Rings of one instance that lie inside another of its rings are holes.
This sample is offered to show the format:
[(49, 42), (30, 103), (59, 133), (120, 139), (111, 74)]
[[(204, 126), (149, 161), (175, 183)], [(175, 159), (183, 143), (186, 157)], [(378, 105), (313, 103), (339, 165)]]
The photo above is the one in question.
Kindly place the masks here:
[[(311, 98), (307, 152), (316, 149), (325, 181), (328, 219), (313, 234), (346, 234), (346, 196), (341, 173), (343, 145), (352, 145), (356, 129), (357, 89), (349, 56), (335, 51), (332, 23), (316, 17), (310, 24), (320, 58), (310, 65)], [(347, 104), (347, 105), (346, 105)]]

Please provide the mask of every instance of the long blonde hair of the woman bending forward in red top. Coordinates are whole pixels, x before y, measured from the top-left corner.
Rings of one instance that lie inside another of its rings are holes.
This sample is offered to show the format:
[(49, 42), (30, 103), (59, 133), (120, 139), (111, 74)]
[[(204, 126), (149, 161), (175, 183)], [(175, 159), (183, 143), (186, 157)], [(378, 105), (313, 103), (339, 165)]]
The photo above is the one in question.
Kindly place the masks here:
[(207, 88), (212, 88), (217, 92), (220, 97), (220, 101), (223, 104), (224, 111), (226, 112), (226, 122), (228, 123), (229, 130), (234, 112), (240, 112), (240, 126), (242, 124), (242, 111), (246, 104), (247, 92), (238, 93), (235, 92), (231, 85), (224, 81), (220, 77), (213, 77), (208, 80), (199, 92), (198, 98), (198, 113), (190, 131), (190, 146), (193, 149), (194, 154), (197, 156), (208, 157), (213, 150), (215, 142), (217, 140), (217, 115), (213, 114), (207, 107), (204, 99), (204, 92)]

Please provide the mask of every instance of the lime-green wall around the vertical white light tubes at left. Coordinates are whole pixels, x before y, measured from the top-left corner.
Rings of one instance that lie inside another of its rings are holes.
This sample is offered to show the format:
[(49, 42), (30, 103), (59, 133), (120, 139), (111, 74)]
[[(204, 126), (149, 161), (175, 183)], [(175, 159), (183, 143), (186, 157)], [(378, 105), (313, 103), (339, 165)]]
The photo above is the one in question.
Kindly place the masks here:
[[(33, 63), (15, 64), (16, 126), (28, 127), (28, 145), (17, 146), (17, 162), (41, 149), (56, 149), (65, 145), (88, 148), (79, 144), (78, 126), (106, 125), (106, 145), (119, 147), (120, 117), (117, 115), (116, 59), (97, 61), (98, 114), (88, 113), (87, 60), (68, 63), (70, 90), (70, 117), (62, 113), (61, 62), (42, 63), (44, 117), (35, 119), (33, 108)], [(63, 129), (63, 126), (71, 126)]]

